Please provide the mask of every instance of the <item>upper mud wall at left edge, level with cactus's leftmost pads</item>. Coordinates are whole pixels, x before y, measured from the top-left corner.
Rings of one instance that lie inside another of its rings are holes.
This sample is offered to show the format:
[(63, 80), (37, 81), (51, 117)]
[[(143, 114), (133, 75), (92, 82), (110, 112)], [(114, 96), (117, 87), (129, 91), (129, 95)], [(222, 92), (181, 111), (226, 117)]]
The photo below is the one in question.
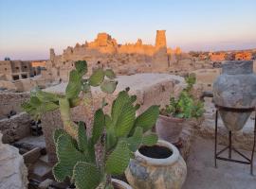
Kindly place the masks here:
[(29, 98), (29, 93), (0, 93), (0, 119), (6, 118), (10, 111), (22, 112), (21, 103)]

